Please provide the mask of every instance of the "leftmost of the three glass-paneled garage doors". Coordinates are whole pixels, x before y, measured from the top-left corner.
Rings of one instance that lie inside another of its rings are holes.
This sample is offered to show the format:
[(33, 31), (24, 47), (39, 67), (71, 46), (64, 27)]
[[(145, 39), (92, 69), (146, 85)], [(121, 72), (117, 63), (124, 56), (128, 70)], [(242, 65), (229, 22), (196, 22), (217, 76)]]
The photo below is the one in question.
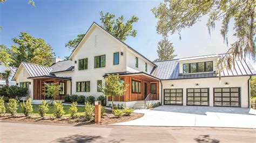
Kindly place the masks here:
[(165, 105), (183, 105), (183, 89), (164, 89)]

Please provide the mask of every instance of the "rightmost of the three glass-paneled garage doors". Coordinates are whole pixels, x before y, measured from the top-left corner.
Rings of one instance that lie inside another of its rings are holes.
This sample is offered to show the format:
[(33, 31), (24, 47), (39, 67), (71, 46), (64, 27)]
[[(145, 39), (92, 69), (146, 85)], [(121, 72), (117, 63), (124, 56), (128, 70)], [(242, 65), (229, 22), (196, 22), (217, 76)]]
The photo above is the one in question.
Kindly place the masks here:
[(213, 88), (214, 106), (240, 107), (240, 88)]

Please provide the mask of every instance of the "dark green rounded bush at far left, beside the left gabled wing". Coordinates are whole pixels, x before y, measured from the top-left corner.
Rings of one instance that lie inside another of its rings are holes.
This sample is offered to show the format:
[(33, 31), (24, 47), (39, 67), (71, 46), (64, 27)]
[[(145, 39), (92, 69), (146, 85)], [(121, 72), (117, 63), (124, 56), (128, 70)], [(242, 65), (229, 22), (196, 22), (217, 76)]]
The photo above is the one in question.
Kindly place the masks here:
[(6, 88), (6, 93), (9, 98), (21, 99), (22, 97), (28, 95), (28, 89), (11, 85), (10, 87)]

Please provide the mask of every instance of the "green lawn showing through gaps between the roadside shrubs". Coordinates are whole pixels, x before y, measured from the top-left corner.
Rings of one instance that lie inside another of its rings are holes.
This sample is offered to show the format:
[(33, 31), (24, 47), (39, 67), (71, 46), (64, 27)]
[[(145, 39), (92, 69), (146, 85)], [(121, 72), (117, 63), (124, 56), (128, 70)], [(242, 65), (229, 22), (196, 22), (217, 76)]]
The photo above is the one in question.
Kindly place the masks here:
[[(22, 108), (21, 108), (21, 104), (18, 104), (18, 110), (17, 110), (17, 113), (23, 113), (22, 112)], [(32, 115), (39, 115), (38, 114), (38, 108), (39, 108), (39, 105), (38, 104), (32, 104), (33, 106), (33, 113)], [(65, 111), (65, 116), (69, 116), (69, 108), (70, 108), (70, 105), (63, 105), (63, 109)], [(5, 108), (7, 108), (7, 104), (5, 103)], [(84, 112), (84, 107), (83, 106), (77, 106), (77, 109), (78, 109), (78, 113), (79, 115), (83, 115), (83, 112)], [(8, 112), (8, 110), (7, 110)], [(52, 115), (53, 113), (53, 105), (49, 105), (49, 111), (46, 113), (46, 115)]]

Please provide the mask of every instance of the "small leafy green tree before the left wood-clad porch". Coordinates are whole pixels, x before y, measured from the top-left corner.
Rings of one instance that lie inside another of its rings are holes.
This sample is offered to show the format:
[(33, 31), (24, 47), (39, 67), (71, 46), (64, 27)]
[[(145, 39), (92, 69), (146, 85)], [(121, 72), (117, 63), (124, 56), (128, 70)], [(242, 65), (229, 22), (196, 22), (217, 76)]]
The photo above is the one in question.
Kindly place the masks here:
[(44, 83), (44, 96), (52, 98), (53, 100), (59, 95), (60, 85), (58, 83)]

